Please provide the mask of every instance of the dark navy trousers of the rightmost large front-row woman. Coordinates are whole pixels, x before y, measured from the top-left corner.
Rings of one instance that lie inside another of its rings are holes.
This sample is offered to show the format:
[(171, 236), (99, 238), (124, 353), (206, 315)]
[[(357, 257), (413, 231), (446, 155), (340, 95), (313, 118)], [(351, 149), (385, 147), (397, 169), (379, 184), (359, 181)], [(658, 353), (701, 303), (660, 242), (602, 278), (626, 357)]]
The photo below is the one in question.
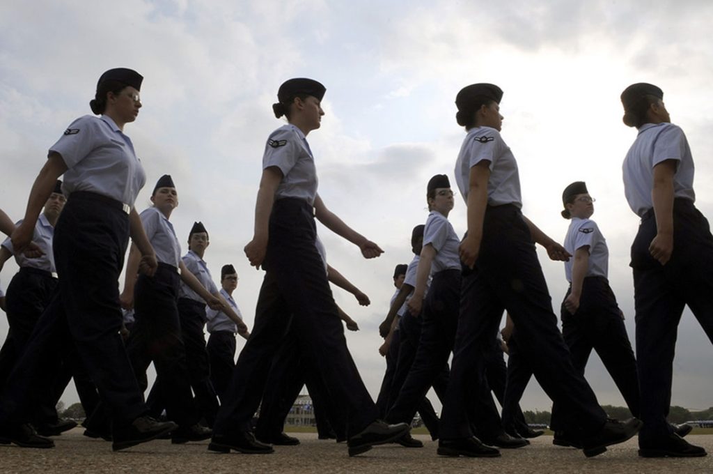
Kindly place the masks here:
[(631, 247), (642, 446), (671, 430), (666, 415), (671, 405), (677, 328), (685, 305), (713, 342), (713, 236), (708, 221), (692, 201), (676, 198), (673, 223), (674, 250), (666, 265), (649, 253), (657, 232), (653, 211), (642, 218)]

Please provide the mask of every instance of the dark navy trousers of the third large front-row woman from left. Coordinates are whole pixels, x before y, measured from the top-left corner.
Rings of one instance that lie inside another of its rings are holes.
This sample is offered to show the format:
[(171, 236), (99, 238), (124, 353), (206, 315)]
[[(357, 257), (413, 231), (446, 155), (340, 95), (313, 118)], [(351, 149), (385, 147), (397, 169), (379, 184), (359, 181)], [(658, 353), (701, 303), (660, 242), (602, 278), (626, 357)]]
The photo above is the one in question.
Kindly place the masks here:
[(473, 435), (463, 413), (473, 412), (478, 391), (487, 385), (485, 362), (506, 309), (540, 385), (562, 405), (578, 434), (581, 430), (583, 435), (595, 435), (606, 414), (570, 360), (522, 213), (516, 206), (505, 205), (486, 209), (475, 270), (463, 275), (441, 439)]

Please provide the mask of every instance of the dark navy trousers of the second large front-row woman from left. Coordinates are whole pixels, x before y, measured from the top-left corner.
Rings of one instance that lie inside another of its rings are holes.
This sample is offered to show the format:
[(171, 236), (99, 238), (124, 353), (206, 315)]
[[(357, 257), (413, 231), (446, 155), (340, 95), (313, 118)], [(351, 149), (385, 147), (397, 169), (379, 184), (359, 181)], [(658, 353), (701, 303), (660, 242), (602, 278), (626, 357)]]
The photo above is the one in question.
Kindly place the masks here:
[(265, 381), (282, 344), (289, 319), (304, 341), (325, 385), (344, 407), (347, 435), (376, 420), (378, 410), (354, 370), (344, 327), (337, 313), (322, 257), (314, 242), (312, 207), (299, 199), (275, 202), (270, 216), (265, 280), (255, 310), (255, 324), (240, 352), (227, 403), (218, 412), (214, 432), (230, 435), (250, 430), (250, 420), (265, 391)]

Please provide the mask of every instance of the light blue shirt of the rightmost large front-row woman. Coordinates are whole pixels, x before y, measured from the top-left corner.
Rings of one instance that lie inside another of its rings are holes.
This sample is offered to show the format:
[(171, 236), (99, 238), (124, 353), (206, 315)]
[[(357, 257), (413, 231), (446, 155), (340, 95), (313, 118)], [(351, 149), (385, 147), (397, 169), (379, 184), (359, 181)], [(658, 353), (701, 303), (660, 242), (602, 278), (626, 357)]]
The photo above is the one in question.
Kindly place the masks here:
[(683, 130), (673, 123), (645, 123), (624, 159), (624, 193), (637, 216), (654, 207), (651, 191), (654, 166), (676, 160), (673, 176), (674, 196), (696, 200), (693, 192), (693, 156)]

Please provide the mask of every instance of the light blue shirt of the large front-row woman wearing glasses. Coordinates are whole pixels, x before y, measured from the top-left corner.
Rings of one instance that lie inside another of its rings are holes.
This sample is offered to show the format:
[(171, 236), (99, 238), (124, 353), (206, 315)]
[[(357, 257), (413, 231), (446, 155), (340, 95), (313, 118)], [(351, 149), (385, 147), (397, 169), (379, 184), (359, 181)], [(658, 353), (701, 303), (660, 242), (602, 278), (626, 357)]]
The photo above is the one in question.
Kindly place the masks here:
[(86, 115), (71, 123), (49, 151), (62, 156), (68, 170), (62, 192), (91, 191), (134, 206), (146, 174), (128, 136), (106, 115)]

